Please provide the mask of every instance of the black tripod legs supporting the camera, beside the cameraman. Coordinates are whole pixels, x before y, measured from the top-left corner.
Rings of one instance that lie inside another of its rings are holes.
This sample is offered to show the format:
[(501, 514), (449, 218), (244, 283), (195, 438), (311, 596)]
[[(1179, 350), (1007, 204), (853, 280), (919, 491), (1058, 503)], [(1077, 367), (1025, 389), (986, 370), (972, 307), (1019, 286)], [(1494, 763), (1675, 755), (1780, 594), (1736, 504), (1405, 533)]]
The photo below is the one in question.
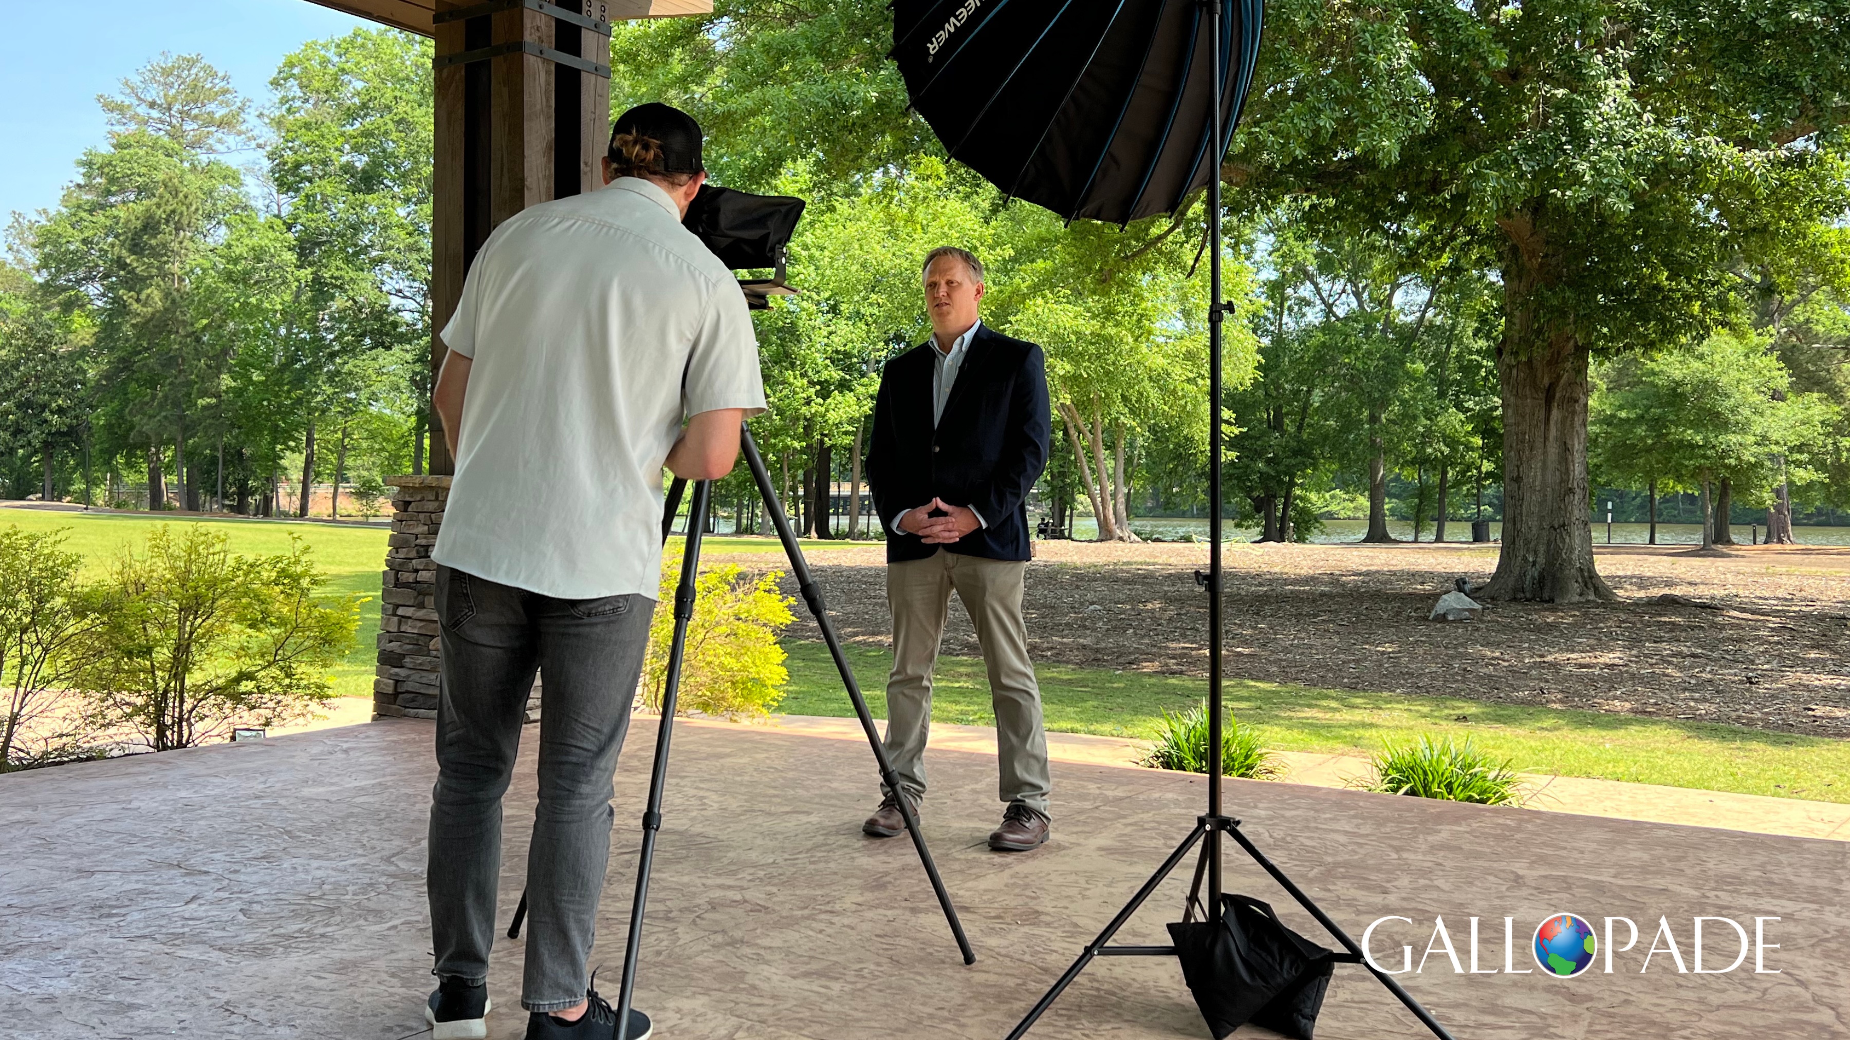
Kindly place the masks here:
[[(855, 703), (855, 714), (860, 718), (860, 729), (868, 735), (868, 746), (873, 748), (873, 761), (881, 770), (881, 781), (888, 790), (899, 790), (899, 775), (894, 774), (894, 764), (886, 759), (886, 748), (881, 746), (881, 731), (873, 722), (873, 712), (868, 711), (868, 700), (860, 696), (860, 683), (855, 681), (855, 670), (847, 662), (847, 653), (842, 651), (842, 640), (834, 633), (834, 624), (829, 620), (829, 609), (823, 605), (821, 590), (816, 587), (816, 579), (810, 576), (808, 561), (803, 559), (803, 546), (797, 544), (797, 535), (790, 527), (790, 518), (784, 516), (783, 505), (777, 503), (777, 489), (771, 485), (771, 472), (764, 466), (764, 455), (758, 453), (757, 442), (751, 439), (751, 429), (742, 427), (740, 446), (744, 448), (746, 464), (751, 468), (751, 477), (758, 485), (758, 498), (764, 500), (764, 514), (771, 518), (771, 526), (777, 527), (777, 539), (784, 544), (784, 555), (790, 559), (790, 572), (797, 579), (797, 590), (803, 594), (803, 601), (808, 605), (810, 614), (816, 616), (816, 625), (821, 627), (821, 638), (829, 644), (829, 655), (834, 657), (834, 666), (842, 672), (842, 687), (847, 688), (847, 700)], [(688, 481), (675, 479), (668, 487), (668, 507), (662, 511), (662, 540), (673, 527), (675, 513), (681, 509), (681, 496), (686, 490)], [(694, 581), (699, 576), (699, 550), (701, 537), (707, 527), (707, 503), (712, 498), (710, 481), (694, 483), (694, 498), (688, 501), (688, 533), (686, 550), (681, 557), (681, 583), (675, 587), (675, 635), (668, 648), (668, 674), (662, 681), (662, 720), (655, 737), (655, 768), (649, 774), (649, 803), (642, 812), (642, 855), (636, 860), (636, 901), (629, 910), (629, 940), (623, 946), (623, 984), (618, 994), (616, 1005), (616, 1040), (629, 1040), (629, 1005), (636, 990), (636, 959), (642, 953), (642, 914), (649, 899), (649, 868), (655, 862), (655, 836), (662, 827), (662, 788), (668, 783), (668, 742), (673, 737), (675, 724), (675, 701), (681, 694), (681, 661), (686, 651), (688, 622), (694, 618)], [(977, 953), (969, 947), (969, 938), (964, 935), (962, 922), (956, 920), (956, 907), (951, 905), (951, 894), (944, 886), (944, 879), (938, 875), (938, 864), (931, 859), (931, 849), (925, 848), (925, 835), (919, 831), (918, 816), (912, 807), (906, 805), (905, 798), (895, 799), (899, 803), (899, 814), (906, 822), (906, 833), (912, 835), (912, 848), (919, 853), (919, 862), (925, 864), (925, 875), (931, 879), (932, 892), (938, 894), (938, 905), (944, 909), (944, 918), (951, 925), (951, 935), (956, 938), (956, 947), (964, 953), (964, 964), (975, 964)], [(520, 923), (527, 916), (527, 896), (520, 896), (520, 905), (514, 909), (514, 922), (507, 929), (509, 938), (520, 936)]]

